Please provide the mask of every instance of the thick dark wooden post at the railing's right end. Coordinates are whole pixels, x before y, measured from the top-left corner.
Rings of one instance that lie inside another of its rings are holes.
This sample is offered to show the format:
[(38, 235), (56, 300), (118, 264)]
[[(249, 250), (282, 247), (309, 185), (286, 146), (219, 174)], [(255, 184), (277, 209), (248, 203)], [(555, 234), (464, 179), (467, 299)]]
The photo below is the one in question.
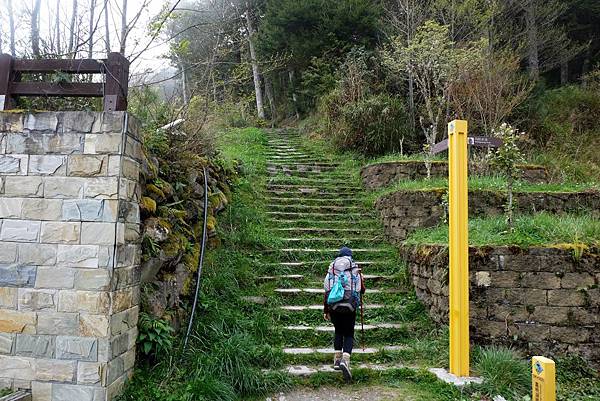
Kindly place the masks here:
[(104, 111), (126, 111), (129, 61), (121, 53), (110, 53), (105, 67)]

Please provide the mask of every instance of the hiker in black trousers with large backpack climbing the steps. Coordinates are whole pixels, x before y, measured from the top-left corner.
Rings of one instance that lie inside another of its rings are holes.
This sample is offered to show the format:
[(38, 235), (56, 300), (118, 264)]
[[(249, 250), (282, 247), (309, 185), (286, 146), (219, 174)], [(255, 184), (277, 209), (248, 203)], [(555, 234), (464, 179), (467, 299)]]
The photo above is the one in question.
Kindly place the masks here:
[(323, 317), (330, 320), (335, 327), (333, 368), (341, 370), (346, 381), (350, 381), (350, 356), (354, 346), (356, 312), (365, 293), (362, 272), (352, 260), (350, 248), (341, 248), (338, 256), (329, 265), (324, 288)]

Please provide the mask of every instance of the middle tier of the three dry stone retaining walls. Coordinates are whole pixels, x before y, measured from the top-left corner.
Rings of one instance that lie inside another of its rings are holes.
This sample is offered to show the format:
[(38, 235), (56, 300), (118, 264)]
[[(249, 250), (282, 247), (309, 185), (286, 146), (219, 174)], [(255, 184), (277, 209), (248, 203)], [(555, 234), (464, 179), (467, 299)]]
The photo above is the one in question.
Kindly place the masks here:
[[(444, 190), (397, 191), (375, 203), (383, 219), (385, 232), (401, 242), (417, 228), (441, 223), (445, 214)], [(506, 194), (498, 191), (470, 191), (469, 216), (498, 216), (504, 213)], [(522, 192), (515, 193), (515, 207), (524, 213), (576, 213), (586, 211), (600, 218), (600, 193)]]

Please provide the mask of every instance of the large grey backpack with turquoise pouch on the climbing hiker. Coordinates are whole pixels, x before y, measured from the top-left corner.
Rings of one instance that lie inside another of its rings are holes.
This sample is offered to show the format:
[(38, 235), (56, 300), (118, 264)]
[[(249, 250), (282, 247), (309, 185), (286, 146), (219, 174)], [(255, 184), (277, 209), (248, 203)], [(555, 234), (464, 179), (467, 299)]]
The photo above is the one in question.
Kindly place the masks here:
[(338, 274), (336, 274), (336, 263), (340, 262), (339, 259), (340, 258), (337, 258), (333, 262), (330, 271), (325, 277), (327, 304), (332, 312), (354, 313), (360, 306), (360, 295), (358, 291), (360, 277), (353, 273), (353, 270), (356, 269), (356, 267), (349, 258), (346, 258), (349, 262), (349, 267), (338, 270)]

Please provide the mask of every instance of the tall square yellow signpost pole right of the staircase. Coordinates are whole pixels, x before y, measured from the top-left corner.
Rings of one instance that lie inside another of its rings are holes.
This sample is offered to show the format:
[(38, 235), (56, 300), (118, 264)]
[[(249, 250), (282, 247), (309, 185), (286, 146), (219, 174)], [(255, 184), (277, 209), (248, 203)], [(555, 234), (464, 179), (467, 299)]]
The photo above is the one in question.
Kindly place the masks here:
[(469, 203), (467, 122), (448, 124), (450, 373), (469, 376)]

